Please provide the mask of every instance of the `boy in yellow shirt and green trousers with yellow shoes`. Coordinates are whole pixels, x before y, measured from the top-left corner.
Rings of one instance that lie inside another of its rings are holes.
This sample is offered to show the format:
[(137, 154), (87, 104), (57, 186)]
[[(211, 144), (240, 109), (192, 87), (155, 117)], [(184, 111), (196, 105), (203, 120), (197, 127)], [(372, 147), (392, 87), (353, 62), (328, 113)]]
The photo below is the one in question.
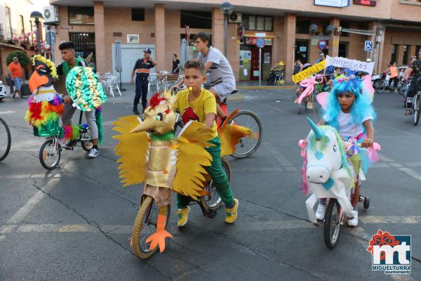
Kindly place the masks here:
[[(234, 223), (239, 207), (239, 200), (234, 198), (229, 187), (227, 175), (225, 175), (221, 164), (221, 143), (216, 129), (216, 100), (213, 93), (203, 89), (201, 85), (206, 81), (205, 67), (200, 60), (188, 60), (185, 63), (185, 84), (187, 89), (177, 93), (177, 101), (173, 110), (179, 110), (182, 122), (186, 124), (189, 120), (196, 120), (205, 124), (213, 130), (213, 138), (209, 143), (215, 146), (206, 148), (212, 156), (212, 164), (206, 167), (206, 171), (215, 183), (216, 190), (225, 204), (226, 223)], [(187, 216), (190, 212), (189, 197), (177, 195), (178, 223), (177, 226), (185, 226)]]

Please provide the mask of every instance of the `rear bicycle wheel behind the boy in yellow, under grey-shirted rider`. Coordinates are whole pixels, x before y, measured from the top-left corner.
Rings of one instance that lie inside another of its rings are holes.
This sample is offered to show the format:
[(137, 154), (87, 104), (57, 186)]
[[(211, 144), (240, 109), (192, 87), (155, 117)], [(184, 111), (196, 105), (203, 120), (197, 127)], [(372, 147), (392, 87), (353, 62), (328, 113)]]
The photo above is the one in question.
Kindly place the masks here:
[(233, 118), (235, 124), (245, 126), (251, 130), (252, 138), (249, 136), (241, 138), (236, 145), (235, 152), (231, 155), (235, 158), (246, 158), (258, 150), (262, 142), (263, 127), (258, 115), (249, 110), (240, 110)]

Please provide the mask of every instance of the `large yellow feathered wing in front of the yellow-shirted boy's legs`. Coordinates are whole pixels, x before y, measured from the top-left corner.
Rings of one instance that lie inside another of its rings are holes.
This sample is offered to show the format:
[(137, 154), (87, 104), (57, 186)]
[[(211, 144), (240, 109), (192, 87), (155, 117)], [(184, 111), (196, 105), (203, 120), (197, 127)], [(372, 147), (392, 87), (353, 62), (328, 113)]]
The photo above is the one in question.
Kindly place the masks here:
[(197, 200), (203, 190), (206, 179), (205, 166), (210, 166), (212, 157), (205, 148), (213, 146), (208, 141), (213, 139), (213, 131), (204, 124), (190, 121), (182, 129), (177, 143), (177, 163), (173, 181), (173, 191)]

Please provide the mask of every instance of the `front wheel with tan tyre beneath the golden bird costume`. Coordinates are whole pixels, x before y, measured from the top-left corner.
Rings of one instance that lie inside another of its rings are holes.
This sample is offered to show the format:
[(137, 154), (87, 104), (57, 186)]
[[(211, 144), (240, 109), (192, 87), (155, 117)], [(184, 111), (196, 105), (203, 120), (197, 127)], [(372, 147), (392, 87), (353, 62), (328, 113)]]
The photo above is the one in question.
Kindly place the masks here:
[[(167, 229), (171, 207), (170, 205), (166, 205), (161, 208), (164, 208), (163, 211), (166, 213), (165, 228)], [(149, 251), (149, 244), (145, 241), (147, 240), (147, 237), (156, 233), (156, 223), (161, 208), (155, 206), (155, 200), (150, 196), (144, 197), (140, 203), (140, 209), (135, 218), (135, 225), (132, 230), (133, 251), (140, 259), (149, 258), (149, 256), (152, 256), (158, 249), (158, 246), (156, 246), (155, 249)]]

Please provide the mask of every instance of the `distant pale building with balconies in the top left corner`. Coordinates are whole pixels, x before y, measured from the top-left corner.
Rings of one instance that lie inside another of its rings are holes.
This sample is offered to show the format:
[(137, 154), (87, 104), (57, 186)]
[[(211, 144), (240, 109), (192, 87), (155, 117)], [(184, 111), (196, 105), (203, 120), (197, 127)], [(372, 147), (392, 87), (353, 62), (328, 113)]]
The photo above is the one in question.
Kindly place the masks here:
[[(0, 0), (0, 79), (8, 75), (8, 53), (25, 51), (29, 58), (36, 53), (36, 27), (30, 18), (34, 9), (33, 0)], [(27, 67), (25, 78), (29, 73)]]

